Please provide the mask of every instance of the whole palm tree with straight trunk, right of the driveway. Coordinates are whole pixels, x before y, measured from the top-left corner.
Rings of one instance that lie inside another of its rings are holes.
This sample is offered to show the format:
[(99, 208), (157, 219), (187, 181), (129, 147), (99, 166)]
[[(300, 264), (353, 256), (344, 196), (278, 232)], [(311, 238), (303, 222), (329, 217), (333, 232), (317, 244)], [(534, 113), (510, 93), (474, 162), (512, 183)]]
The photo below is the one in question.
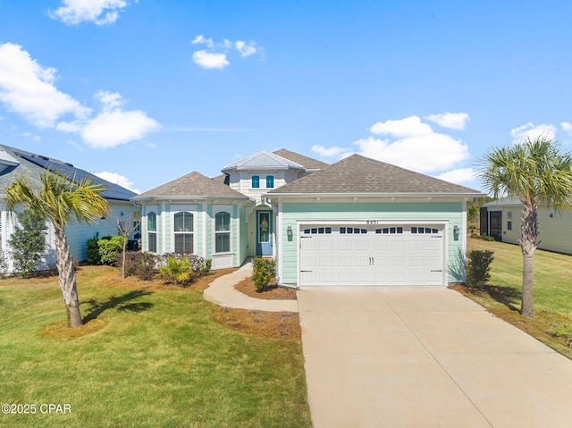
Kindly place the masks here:
[(572, 156), (560, 153), (554, 139), (540, 136), (510, 147), (493, 147), (479, 164), (478, 174), (493, 197), (517, 197), (524, 206), (518, 239), (523, 256), (521, 314), (534, 317), (537, 209), (547, 206), (559, 213), (572, 203)]

